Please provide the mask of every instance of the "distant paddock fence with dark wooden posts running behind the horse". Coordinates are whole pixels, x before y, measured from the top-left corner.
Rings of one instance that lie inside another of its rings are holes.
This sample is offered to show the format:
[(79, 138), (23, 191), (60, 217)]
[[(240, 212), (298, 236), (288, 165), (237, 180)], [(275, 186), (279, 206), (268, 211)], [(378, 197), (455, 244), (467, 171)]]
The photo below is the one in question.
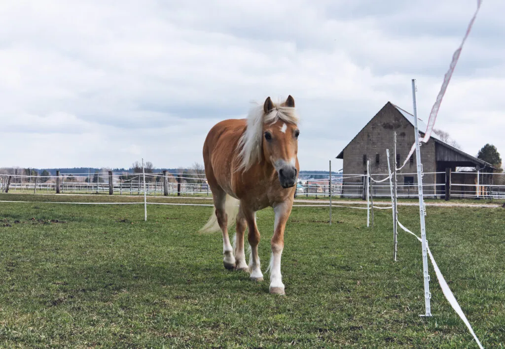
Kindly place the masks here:
[[(425, 175), (437, 177), (440, 183), (423, 183), (425, 197), (435, 199), (505, 199), (504, 173), (475, 172), (427, 172)], [(146, 195), (148, 196), (208, 196), (212, 193), (205, 176), (176, 176), (171, 173), (146, 173)], [(321, 176), (321, 173), (318, 173)], [(403, 176), (403, 181), (401, 181)], [(446, 176), (450, 176), (446, 181)], [(331, 185), (326, 179), (299, 180), (295, 197), (306, 198), (363, 198), (366, 199), (366, 175), (346, 174), (333, 176)], [(417, 174), (398, 173), (401, 182), (397, 185), (399, 198), (417, 198)], [(477, 180), (477, 177), (479, 179)], [(112, 178), (112, 183), (110, 179)], [(372, 173), (370, 180), (374, 182), (371, 196), (388, 198), (389, 185), (387, 173)], [(435, 178), (433, 178), (435, 179)], [(88, 181), (93, 180), (92, 183)], [(59, 188), (59, 190), (57, 190)], [(56, 176), (25, 176), (21, 174), (0, 174), (0, 192), (10, 193), (74, 193), (74, 194), (106, 194), (142, 195), (143, 184), (139, 173), (120, 173), (97, 176), (73, 176), (66, 174)]]

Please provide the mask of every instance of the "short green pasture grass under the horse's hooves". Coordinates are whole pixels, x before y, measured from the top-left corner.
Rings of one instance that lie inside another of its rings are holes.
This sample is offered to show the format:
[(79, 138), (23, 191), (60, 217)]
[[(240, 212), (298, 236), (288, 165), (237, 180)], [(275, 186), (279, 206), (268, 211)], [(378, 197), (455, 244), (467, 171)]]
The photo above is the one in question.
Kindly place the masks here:
[[(0, 200), (135, 198), (3, 194)], [(158, 199), (164, 202), (201, 200)], [(150, 200), (154, 201), (154, 200)], [(282, 258), (286, 296), (227, 271), (222, 238), (198, 234), (212, 208), (0, 203), (1, 347), (477, 347), (430, 264), (424, 313), (421, 244), (390, 210), (295, 207)], [(428, 208), (430, 249), (485, 347), (505, 342), (505, 210)], [(273, 211), (258, 212), (260, 258)], [(399, 207), (419, 235), (417, 207)]]

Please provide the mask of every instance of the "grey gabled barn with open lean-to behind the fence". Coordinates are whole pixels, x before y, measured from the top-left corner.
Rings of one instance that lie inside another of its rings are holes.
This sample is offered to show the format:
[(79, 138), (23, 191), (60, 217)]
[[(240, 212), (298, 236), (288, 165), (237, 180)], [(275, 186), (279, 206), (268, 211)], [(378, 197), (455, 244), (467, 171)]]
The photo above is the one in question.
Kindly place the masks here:
[[(426, 124), (418, 118), (419, 133), (424, 136)], [(386, 149), (389, 149), (391, 166), (393, 165), (394, 133), (396, 133), (396, 166), (405, 161), (415, 142), (414, 115), (387, 102), (363, 129), (336, 156), (343, 160), (342, 196), (356, 197), (363, 193), (363, 178), (353, 175), (367, 173), (367, 161), (370, 160), (371, 174), (388, 173)], [(417, 193), (417, 166), (414, 154), (397, 176), (398, 196), (415, 196)], [(432, 134), (428, 143), (422, 143), (421, 159), (423, 163), (424, 194), (427, 197), (445, 196), (446, 176), (450, 176), (453, 197), (466, 197), (480, 191), (478, 184), (490, 184), (493, 166), (462, 150), (455, 148)], [(470, 168), (470, 173), (456, 172), (461, 168)], [(448, 173), (446, 175), (446, 173)], [(347, 178), (346, 178), (347, 177)], [(384, 177), (382, 177), (384, 178)], [(380, 177), (378, 177), (380, 179)], [(372, 194), (389, 196), (389, 186)]]

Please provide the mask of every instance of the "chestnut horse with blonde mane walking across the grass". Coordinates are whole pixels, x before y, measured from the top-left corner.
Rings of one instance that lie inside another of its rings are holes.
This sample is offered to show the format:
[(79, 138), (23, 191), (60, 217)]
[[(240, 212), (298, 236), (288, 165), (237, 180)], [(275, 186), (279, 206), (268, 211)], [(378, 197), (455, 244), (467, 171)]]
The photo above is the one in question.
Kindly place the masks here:
[[(250, 109), (246, 119), (229, 119), (214, 125), (203, 147), (205, 173), (215, 210), (200, 231), (221, 230), (224, 267), (249, 272), (251, 280), (263, 281), (256, 212), (272, 207), (274, 233), (270, 264), (265, 273), (270, 271), (269, 292), (277, 295), (285, 295), (281, 255), (299, 173), (298, 121), (291, 95), (282, 103), (274, 103), (267, 97), (263, 105)], [(236, 232), (232, 247), (228, 227), (233, 220)], [(246, 225), (249, 264), (244, 253)]]

